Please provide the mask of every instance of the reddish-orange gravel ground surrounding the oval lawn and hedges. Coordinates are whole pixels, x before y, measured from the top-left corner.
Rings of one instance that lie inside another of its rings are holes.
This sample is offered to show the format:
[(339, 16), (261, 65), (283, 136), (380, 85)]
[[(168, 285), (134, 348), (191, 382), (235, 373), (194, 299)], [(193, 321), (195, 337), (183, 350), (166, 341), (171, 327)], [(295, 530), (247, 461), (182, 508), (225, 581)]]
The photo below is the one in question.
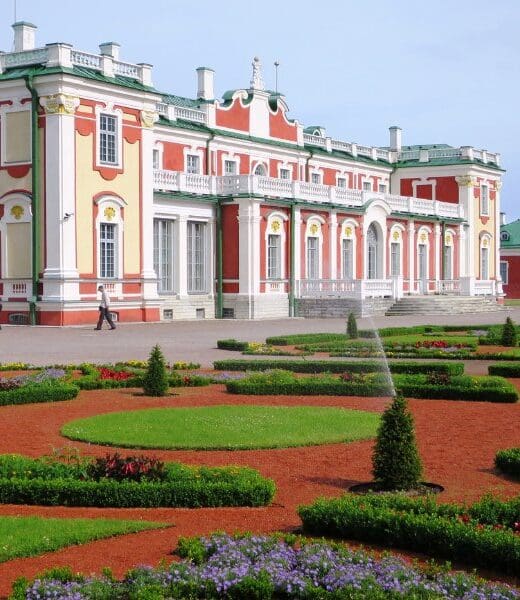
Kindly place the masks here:
[[(520, 380), (512, 380), (517, 387)], [(61, 426), (73, 419), (122, 410), (151, 407), (208, 406), (216, 404), (319, 405), (382, 412), (384, 398), (331, 396), (239, 396), (224, 386), (185, 388), (166, 398), (147, 398), (136, 390), (83, 391), (75, 400), (53, 404), (0, 407), (0, 453), (29, 456), (50, 454), (53, 448), (72, 445), (84, 454), (114, 451), (102, 446), (69, 442), (60, 436)], [(425, 479), (443, 485), (443, 501), (473, 501), (486, 492), (512, 497), (518, 483), (500, 476), (493, 468), (495, 452), (518, 446), (520, 404), (411, 400)], [(83, 573), (104, 566), (122, 575), (137, 564), (168, 561), (179, 536), (207, 534), (215, 530), (288, 531), (300, 525), (296, 507), (317, 496), (338, 496), (354, 483), (370, 480), (373, 441), (331, 444), (279, 450), (243, 451), (143, 451), (162, 460), (204, 465), (247, 465), (276, 481), (274, 504), (267, 508), (220, 509), (102, 509), (35, 506), (0, 506), (1, 515), (49, 517), (107, 517), (147, 519), (171, 524), (171, 528), (120, 536), (64, 548), (43, 556), (0, 564), (0, 596), (10, 591), (20, 575), (60, 565)], [(128, 450), (122, 450), (128, 453)], [(141, 451), (139, 451), (141, 452)]]

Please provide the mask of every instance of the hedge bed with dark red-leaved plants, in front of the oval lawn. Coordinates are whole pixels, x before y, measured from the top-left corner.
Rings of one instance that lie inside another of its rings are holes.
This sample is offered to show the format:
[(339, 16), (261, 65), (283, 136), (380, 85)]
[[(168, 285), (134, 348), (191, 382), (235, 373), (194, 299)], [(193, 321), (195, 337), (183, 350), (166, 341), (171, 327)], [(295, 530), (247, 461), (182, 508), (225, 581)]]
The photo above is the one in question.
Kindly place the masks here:
[[(264, 506), (275, 492), (272, 480), (249, 468), (165, 463), (161, 477), (151, 478), (149, 459), (119, 457), (120, 468), (110, 467), (118, 460), (114, 455), (101, 460), (105, 460), (105, 467), (88, 458), (64, 463), (0, 455), (0, 502), (103, 507)], [(136, 478), (140, 463), (141, 476)], [(123, 473), (123, 467), (132, 469)]]

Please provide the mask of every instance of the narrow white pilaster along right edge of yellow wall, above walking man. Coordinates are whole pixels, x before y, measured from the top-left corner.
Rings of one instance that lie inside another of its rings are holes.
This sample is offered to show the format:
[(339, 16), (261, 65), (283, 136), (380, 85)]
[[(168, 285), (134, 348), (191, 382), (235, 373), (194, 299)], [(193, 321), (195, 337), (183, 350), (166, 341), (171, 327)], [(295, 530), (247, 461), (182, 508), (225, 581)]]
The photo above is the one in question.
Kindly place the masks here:
[(142, 111), (141, 121), (141, 279), (143, 300), (158, 298), (157, 273), (153, 268), (153, 124), (157, 115), (153, 112)]

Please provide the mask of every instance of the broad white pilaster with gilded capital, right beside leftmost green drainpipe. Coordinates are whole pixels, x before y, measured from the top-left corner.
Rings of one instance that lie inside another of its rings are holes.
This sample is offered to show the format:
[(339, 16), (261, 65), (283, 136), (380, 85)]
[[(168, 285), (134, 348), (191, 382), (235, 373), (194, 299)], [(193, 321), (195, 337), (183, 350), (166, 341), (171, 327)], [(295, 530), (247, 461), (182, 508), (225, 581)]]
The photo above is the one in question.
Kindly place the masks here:
[(76, 263), (76, 165), (74, 112), (79, 98), (43, 97), (45, 109), (44, 301), (79, 300)]

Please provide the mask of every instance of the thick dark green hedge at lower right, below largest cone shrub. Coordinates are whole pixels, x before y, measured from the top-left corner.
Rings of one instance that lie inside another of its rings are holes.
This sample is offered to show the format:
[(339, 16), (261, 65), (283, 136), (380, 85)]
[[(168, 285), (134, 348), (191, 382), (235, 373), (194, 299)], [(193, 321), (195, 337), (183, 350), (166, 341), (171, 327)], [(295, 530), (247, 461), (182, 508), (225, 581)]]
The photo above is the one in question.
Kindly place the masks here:
[[(520, 507), (518, 499), (503, 504), (505, 511)], [(509, 574), (520, 572), (520, 536), (514, 524), (490, 521), (478, 508), (443, 508), (432, 500), (399, 495), (346, 495), (320, 498), (301, 506), (298, 514), (312, 535), (382, 543)]]

